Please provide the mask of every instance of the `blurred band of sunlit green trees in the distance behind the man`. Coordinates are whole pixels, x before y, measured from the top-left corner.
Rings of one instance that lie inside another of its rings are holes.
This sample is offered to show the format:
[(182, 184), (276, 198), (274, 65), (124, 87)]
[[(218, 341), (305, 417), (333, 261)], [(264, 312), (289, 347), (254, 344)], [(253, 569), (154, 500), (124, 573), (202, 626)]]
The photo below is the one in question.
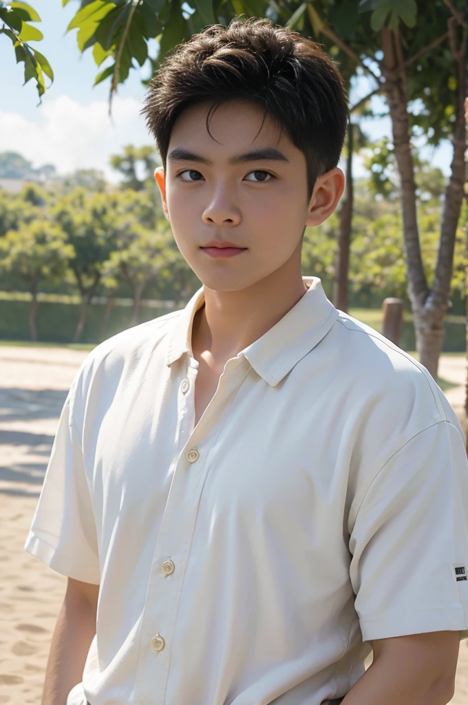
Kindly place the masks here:
[[(386, 296), (399, 296), (410, 308), (398, 185), (392, 180), (388, 144), (386, 140), (371, 144), (364, 135), (362, 143), (369, 178), (356, 180), (354, 186), (350, 299), (355, 306), (379, 307)], [(10, 173), (10, 164), (19, 162), (18, 154), (0, 154), (0, 164), (4, 164), (0, 177)], [(112, 166), (122, 176), (118, 187), (106, 183), (99, 172), (80, 170), (54, 188), (31, 182), (18, 194), (0, 190), (0, 288), (30, 293), (32, 340), (40, 334), (39, 291), (79, 295), (76, 342), (82, 339), (94, 296), (107, 299), (104, 334), (116, 296), (133, 298), (129, 323), (134, 325), (140, 320), (143, 296), (184, 301), (201, 286), (180, 255), (162, 212), (153, 177), (157, 163), (154, 148), (128, 145), (123, 154), (111, 157)], [(27, 162), (23, 168), (27, 173)], [(417, 202), (428, 281), (433, 281), (436, 271), (445, 183), (440, 169), (419, 162)], [(302, 247), (302, 271), (321, 277), (331, 298), (340, 220), (336, 212), (319, 228), (306, 228)], [(463, 311), (465, 263), (460, 225), (450, 289), (452, 312)]]

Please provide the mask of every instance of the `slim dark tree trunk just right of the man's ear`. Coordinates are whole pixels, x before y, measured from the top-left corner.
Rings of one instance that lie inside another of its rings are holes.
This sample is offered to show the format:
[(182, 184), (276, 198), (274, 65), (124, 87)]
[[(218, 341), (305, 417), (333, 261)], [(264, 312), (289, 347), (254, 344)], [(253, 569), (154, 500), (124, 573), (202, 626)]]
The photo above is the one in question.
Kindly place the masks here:
[(354, 205), (354, 185), (352, 183), (353, 137), (354, 130), (350, 121), (347, 126), (346, 196), (340, 212), (340, 231), (338, 233), (338, 249), (335, 257), (335, 286), (333, 288), (335, 307), (345, 313), (348, 306), (348, 272), (350, 269), (351, 226)]

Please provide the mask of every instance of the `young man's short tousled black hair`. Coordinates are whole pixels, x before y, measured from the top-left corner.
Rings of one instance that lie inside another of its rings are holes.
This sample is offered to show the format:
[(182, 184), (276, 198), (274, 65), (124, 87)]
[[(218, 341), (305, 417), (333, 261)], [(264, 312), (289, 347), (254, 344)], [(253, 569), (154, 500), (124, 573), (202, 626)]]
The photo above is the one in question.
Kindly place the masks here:
[(303, 152), (310, 198), (316, 178), (338, 165), (349, 117), (332, 59), (311, 39), (266, 18), (209, 25), (178, 44), (150, 80), (142, 109), (164, 168), (178, 116), (212, 102), (209, 132), (213, 111), (233, 99), (263, 106), (264, 119), (269, 114)]

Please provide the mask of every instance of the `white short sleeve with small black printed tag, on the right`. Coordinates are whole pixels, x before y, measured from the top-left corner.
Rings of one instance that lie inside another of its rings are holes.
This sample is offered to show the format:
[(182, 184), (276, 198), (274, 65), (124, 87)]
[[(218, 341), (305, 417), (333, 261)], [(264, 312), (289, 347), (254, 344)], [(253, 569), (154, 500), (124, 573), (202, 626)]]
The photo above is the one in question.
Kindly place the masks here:
[(362, 639), (454, 630), (468, 639), (468, 461), (445, 419), (381, 468), (350, 534)]

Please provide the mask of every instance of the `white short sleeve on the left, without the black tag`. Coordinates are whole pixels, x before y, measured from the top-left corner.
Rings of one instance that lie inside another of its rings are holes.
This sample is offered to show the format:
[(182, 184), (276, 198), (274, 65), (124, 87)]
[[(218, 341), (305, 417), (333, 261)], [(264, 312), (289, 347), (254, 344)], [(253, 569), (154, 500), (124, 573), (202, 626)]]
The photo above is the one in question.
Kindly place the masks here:
[(82, 448), (70, 419), (68, 394), (25, 550), (53, 570), (99, 584), (99, 553)]

